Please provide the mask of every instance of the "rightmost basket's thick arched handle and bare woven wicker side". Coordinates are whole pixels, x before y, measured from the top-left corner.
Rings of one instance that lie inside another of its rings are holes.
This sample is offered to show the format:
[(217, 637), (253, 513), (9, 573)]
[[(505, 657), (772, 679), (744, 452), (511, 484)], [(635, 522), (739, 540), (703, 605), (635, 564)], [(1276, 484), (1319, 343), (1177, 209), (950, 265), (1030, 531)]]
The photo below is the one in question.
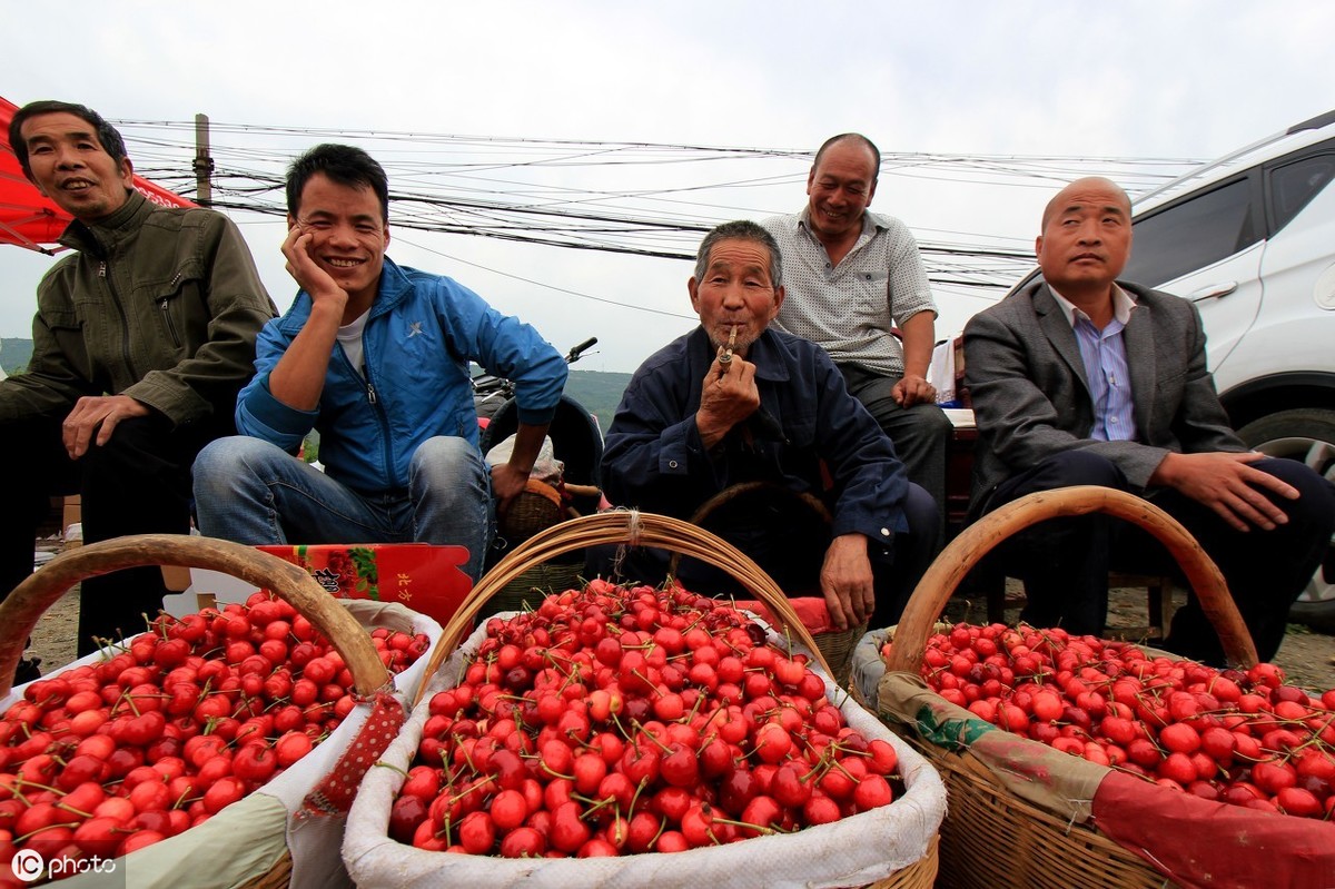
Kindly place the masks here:
[[(913, 591), (894, 629), (886, 671), (918, 675), (936, 619), (960, 581), (1001, 541), (1037, 522), (1093, 511), (1139, 525), (1181, 566), (1226, 655), (1240, 667), (1256, 663), (1256, 649), (1223, 575), (1196, 539), (1159, 507), (1123, 491), (1079, 486), (1031, 494), (967, 527), (936, 558)], [(884, 707), (878, 707), (886, 718)], [(964, 749), (955, 753), (921, 738), (912, 726), (897, 730), (941, 773), (949, 812), (941, 825), (941, 882), (959, 888), (1159, 889), (1172, 886), (1144, 858), (1089, 824), (1071, 822), (1008, 789), (991, 768)], [(1024, 741), (1044, 753), (1036, 741)], [(1056, 753), (1056, 756), (1068, 756)]]

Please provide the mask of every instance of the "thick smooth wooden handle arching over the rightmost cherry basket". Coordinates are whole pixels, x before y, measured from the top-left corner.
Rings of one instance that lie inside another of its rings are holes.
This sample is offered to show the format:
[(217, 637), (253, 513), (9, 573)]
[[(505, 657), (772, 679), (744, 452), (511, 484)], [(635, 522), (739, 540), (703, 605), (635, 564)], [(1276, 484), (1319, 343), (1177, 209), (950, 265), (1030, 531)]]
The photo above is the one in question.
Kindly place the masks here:
[(1153, 534), (1187, 574), (1202, 610), (1219, 634), (1228, 661), (1242, 667), (1255, 666), (1256, 646), (1252, 643), (1251, 633), (1228, 594), (1223, 574), (1200, 549), (1196, 538), (1177, 519), (1148, 501), (1111, 487), (1081, 485), (1021, 497), (964, 529), (941, 551), (913, 590), (894, 630), (888, 669), (917, 674), (922, 667), (922, 654), (932, 634), (932, 625), (941, 615), (960, 581), (993, 547), (1012, 534), (1044, 519), (1096, 511), (1133, 522)]

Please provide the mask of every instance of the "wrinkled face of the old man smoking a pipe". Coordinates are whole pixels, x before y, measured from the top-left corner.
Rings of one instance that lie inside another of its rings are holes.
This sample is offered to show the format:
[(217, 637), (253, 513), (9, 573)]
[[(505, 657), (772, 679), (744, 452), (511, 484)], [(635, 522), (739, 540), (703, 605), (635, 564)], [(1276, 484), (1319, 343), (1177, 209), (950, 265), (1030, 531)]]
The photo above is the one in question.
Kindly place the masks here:
[(733, 327), (733, 351), (745, 356), (784, 303), (784, 288), (769, 276), (769, 248), (760, 242), (725, 239), (709, 252), (701, 280), (686, 284), (690, 304), (714, 347), (726, 346)]

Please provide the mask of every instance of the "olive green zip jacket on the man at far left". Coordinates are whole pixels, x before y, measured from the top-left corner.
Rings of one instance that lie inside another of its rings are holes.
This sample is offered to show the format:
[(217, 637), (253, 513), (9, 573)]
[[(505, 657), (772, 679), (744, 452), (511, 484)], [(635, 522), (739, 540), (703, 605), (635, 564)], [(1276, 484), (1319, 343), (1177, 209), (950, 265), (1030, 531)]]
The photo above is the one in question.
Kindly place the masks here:
[(231, 416), (255, 336), (278, 312), (236, 226), (131, 191), (73, 222), (37, 286), (28, 372), (0, 382), (0, 420), (64, 416), (83, 395), (129, 395), (172, 420)]

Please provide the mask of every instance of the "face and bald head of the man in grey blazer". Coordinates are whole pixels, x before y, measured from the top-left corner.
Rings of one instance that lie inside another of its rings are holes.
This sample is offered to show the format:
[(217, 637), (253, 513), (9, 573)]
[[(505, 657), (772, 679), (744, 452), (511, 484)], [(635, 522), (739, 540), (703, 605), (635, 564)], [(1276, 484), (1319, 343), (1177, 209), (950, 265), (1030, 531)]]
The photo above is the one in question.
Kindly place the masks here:
[(1048, 204), (1035, 252), (1043, 276), (1067, 295), (1109, 287), (1131, 256), (1131, 204), (1104, 179), (1081, 179)]

